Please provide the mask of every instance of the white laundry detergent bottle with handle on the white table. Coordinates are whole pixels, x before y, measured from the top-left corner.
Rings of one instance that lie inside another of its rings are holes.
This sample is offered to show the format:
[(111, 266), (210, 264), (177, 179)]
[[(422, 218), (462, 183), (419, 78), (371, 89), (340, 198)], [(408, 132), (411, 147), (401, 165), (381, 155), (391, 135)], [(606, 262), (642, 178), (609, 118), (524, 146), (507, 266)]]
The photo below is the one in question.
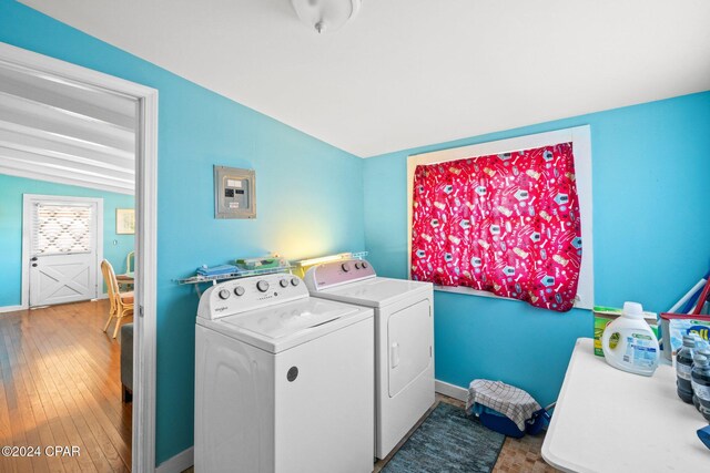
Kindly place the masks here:
[(658, 367), (658, 339), (643, 320), (640, 304), (623, 302), (621, 317), (604, 330), (601, 349), (613, 368), (647, 377), (653, 374)]

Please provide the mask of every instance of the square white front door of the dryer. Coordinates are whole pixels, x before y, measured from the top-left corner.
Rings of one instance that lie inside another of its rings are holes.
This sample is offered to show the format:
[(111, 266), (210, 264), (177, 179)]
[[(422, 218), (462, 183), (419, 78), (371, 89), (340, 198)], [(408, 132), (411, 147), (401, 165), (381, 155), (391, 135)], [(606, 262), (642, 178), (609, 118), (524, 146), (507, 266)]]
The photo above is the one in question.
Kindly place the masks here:
[(394, 398), (432, 364), (433, 323), (423, 299), (387, 319), (389, 397)]

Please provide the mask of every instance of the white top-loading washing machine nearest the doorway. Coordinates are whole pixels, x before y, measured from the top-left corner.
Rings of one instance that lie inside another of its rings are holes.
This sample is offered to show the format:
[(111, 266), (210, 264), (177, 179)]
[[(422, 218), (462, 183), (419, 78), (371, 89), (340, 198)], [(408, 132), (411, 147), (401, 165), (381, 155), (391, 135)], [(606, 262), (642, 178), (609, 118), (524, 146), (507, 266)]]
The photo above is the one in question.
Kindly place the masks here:
[(195, 328), (195, 471), (373, 471), (373, 309), (301, 279), (222, 282)]

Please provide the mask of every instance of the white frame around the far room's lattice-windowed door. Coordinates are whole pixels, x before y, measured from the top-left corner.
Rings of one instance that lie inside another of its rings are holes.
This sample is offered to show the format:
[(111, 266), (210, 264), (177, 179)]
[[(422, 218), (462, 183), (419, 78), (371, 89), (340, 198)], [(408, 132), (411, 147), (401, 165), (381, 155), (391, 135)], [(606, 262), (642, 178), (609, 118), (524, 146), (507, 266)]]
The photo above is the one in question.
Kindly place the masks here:
[(22, 309), (30, 307), (30, 253), (32, 249), (32, 204), (39, 200), (80, 202), (97, 204), (97, 260), (95, 270), (95, 296), (92, 299), (101, 299), (103, 290), (99, 290), (99, 274), (101, 261), (103, 260), (103, 198), (102, 197), (74, 197), (65, 195), (23, 194), (22, 195)]

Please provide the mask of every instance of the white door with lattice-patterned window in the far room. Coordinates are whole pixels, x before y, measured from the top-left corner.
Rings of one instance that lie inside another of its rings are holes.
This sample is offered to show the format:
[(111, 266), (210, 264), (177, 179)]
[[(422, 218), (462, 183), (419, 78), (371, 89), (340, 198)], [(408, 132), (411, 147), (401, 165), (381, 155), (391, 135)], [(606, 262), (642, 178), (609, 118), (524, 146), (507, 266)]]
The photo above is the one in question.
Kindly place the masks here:
[[(95, 299), (100, 199), (29, 200), (30, 307)], [(26, 213), (27, 215), (27, 213)]]

